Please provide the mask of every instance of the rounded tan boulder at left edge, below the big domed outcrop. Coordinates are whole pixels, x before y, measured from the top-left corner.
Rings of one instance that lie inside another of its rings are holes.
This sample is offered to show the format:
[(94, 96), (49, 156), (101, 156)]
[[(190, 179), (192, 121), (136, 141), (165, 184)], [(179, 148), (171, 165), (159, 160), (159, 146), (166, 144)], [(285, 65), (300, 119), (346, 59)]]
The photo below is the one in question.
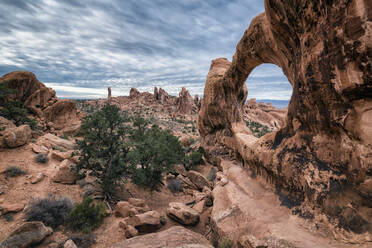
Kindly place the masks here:
[(31, 139), (31, 128), (28, 125), (22, 125), (7, 129), (3, 133), (4, 143), (9, 148), (15, 148), (27, 144)]

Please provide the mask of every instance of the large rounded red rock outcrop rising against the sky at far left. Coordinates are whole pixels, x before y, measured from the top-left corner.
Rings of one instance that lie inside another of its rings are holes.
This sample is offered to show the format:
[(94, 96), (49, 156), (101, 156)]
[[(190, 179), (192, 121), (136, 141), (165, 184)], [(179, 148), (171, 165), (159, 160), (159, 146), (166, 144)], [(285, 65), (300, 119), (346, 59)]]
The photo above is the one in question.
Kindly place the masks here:
[[(44, 128), (47, 123), (52, 123), (55, 130), (62, 130), (67, 124), (70, 129), (80, 124), (75, 103), (71, 100), (58, 100), (55, 91), (47, 88), (33, 73), (11, 72), (1, 77), (0, 83), (5, 83), (15, 90), (6, 101), (23, 102)], [(0, 102), (0, 106), (2, 104)]]

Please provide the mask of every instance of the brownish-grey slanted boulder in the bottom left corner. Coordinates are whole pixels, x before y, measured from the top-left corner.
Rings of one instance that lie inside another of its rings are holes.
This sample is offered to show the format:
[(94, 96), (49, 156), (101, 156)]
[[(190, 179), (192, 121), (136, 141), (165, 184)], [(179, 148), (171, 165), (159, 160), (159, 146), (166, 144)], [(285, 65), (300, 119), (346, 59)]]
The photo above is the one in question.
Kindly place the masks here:
[(52, 232), (53, 230), (42, 222), (26, 222), (5, 238), (0, 243), (0, 248), (27, 248), (40, 243)]

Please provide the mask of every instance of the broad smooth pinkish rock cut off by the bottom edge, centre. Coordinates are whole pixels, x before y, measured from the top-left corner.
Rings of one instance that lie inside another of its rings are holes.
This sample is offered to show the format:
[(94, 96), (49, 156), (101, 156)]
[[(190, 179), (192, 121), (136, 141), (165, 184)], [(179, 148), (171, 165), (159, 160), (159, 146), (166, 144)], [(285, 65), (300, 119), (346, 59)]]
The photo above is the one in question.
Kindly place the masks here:
[(181, 226), (127, 239), (111, 248), (213, 248), (201, 234)]

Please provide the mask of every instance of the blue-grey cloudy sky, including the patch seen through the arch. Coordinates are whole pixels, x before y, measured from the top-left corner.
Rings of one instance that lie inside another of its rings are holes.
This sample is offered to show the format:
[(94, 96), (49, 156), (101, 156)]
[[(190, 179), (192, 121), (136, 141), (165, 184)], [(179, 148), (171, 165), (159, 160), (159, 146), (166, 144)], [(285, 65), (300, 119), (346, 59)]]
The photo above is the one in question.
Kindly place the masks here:
[[(28, 70), (59, 97), (131, 87), (203, 94), (214, 58), (231, 60), (263, 0), (0, 0), (0, 74)], [(261, 65), (249, 98), (289, 99), (280, 68)]]

